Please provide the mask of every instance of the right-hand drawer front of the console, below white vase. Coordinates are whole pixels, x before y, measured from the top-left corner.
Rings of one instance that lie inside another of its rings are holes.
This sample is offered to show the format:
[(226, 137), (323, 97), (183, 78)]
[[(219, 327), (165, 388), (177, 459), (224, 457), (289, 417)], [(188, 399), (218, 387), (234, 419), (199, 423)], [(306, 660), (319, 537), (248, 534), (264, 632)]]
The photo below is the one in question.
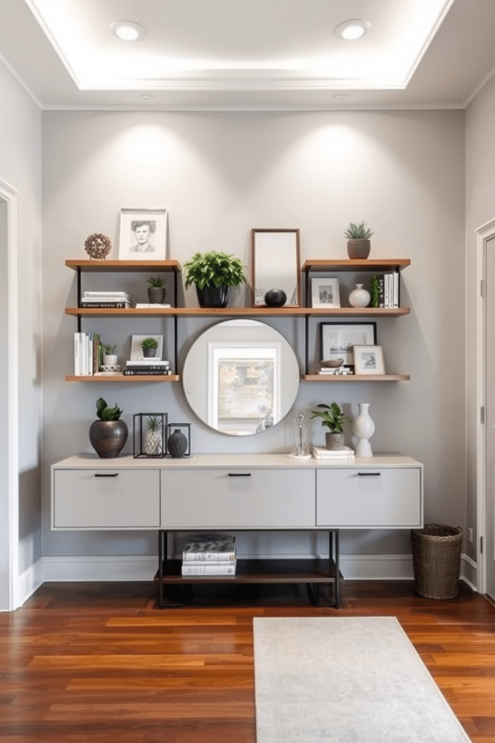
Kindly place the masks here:
[(419, 467), (317, 470), (316, 523), (341, 528), (422, 525)]

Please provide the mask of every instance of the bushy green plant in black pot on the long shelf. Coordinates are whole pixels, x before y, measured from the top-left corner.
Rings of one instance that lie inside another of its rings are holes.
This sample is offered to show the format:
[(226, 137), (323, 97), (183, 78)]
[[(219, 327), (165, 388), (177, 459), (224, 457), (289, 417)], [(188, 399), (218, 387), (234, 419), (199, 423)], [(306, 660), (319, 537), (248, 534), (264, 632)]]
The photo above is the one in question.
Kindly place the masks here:
[(226, 307), (229, 288), (246, 283), (244, 265), (239, 258), (212, 250), (195, 253), (184, 264), (186, 289), (196, 285), (200, 307)]

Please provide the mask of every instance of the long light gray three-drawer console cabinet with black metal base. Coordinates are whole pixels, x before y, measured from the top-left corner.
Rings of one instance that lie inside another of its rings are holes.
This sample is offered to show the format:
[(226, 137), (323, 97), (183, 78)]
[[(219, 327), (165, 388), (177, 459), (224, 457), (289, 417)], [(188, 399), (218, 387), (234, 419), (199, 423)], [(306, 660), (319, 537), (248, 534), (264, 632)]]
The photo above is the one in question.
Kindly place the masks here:
[[(423, 467), (402, 455), (298, 461), (283, 454), (99, 459), (78, 455), (51, 467), (54, 530), (159, 531), (160, 608), (167, 585), (335, 584), (339, 529), (423, 526)], [(183, 577), (168, 531), (328, 531), (328, 559), (237, 559), (235, 576)], [(174, 605), (174, 604), (172, 604)]]

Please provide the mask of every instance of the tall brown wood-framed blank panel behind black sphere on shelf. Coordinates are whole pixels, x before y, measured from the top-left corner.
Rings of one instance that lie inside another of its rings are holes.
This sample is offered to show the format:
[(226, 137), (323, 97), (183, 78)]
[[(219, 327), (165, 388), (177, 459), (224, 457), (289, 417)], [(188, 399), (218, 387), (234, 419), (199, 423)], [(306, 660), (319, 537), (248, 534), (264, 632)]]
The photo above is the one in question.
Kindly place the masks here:
[(298, 229), (251, 230), (252, 305), (266, 306), (270, 289), (286, 293), (285, 307), (301, 307), (301, 248)]

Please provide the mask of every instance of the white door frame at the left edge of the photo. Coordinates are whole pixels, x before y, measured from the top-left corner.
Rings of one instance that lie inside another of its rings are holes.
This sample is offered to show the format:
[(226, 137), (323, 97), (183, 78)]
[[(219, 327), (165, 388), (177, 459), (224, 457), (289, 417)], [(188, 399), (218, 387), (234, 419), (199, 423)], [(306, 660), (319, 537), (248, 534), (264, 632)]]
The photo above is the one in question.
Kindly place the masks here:
[(19, 328), (18, 328), (18, 192), (0, 179), (0, 198), (7, 202), (7, 448), (9, 596), (7, 611), (19, 600)]

